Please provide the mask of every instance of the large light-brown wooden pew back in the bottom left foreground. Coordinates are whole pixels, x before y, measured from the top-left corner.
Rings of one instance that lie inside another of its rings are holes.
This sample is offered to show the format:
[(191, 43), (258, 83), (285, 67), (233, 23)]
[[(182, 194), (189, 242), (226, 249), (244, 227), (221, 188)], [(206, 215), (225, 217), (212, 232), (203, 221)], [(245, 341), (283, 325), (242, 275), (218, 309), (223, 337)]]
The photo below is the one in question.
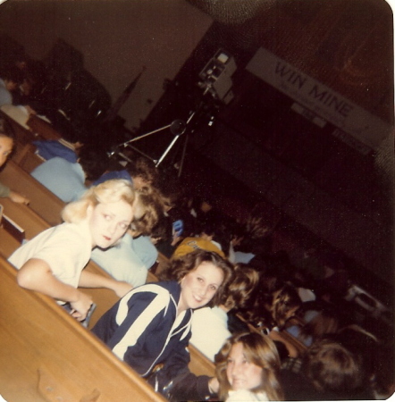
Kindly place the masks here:
[(8, 402), (164, 401), (55, 301), (0, 258), (0, 389)]

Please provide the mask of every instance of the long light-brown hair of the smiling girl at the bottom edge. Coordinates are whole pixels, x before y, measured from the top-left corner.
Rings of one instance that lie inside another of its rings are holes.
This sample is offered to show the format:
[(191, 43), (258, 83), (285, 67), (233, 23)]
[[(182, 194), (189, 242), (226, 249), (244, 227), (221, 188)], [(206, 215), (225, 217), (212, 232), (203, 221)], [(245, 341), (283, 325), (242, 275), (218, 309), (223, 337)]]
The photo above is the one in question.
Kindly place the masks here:
[(243, 355), (249, 363), (262, 370), (262, 382), (253, 392), (265, 392), (269, 400), (283, 400), (282, 386), (279, 381), (280, 357), (272, 339), (257, 332), (236, 334), (227, 339), (223, 348), (215, 356), (215, 375), (220, 383), (219, 400), (226, 400), (231, 384), (226, 369), (233, 345), (241, 343)]

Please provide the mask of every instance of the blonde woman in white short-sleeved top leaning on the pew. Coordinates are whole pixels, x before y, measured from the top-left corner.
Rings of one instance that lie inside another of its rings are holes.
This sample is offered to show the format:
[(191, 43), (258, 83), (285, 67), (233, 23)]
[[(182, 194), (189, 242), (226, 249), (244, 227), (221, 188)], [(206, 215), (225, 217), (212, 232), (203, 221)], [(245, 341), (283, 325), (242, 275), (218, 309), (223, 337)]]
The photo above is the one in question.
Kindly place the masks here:
[(91, 297), (77, 289), (108, 288), (123, 297), (130, 284), (83, 270), (92, 248), (112, 247), (130, 227), (138, 197), (127, 180), (108, 180), (89, 188), (63, 209), (64, 223), (44, 230), (19, 247), (9, 261), (19, 269), (22, 288), (69, 302), (71, 315), (83, 321)]

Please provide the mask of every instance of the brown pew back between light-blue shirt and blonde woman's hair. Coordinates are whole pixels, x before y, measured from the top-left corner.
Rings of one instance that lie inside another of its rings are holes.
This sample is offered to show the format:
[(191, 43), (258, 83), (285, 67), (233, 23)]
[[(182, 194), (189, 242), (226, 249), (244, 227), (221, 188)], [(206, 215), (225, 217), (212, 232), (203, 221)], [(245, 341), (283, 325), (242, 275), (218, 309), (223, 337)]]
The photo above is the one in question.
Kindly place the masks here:
[[(30, 208), (51, 226), (62, 222), (63, 201), (13, 161), (0, 172), (0, 181), (30, 200)], [(1, 202), (1, 200), (0, 200)]]

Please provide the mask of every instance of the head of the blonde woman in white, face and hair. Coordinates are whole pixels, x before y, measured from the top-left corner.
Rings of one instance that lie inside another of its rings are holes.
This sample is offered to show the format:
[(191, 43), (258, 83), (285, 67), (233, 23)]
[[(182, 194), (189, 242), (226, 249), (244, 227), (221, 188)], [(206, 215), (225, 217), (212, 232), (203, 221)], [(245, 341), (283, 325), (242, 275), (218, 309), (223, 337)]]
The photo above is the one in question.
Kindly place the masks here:
[(107, 180), (92, 186), (63, 208), (64, 222), (88, 223), (92, 248), (117, 244), (130, 228), (134, 217), (136, 192), (128, 180)]

